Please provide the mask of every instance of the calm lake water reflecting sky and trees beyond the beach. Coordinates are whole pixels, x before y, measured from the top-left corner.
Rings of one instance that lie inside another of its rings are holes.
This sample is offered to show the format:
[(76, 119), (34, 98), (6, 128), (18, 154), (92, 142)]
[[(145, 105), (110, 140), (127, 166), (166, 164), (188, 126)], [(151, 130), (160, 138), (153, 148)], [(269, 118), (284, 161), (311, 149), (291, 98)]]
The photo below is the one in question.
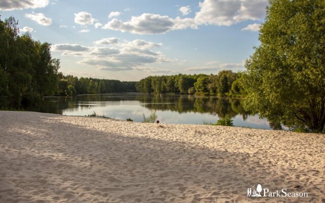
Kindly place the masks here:
[(280, 129), (281, 125), (259, 119), (244, 111), (241, 99), (217, 96), (145, 94), (145, 93), (110, 93), (85, 94), (74, 97), (46, 97), (44, 103), (31, 109), (39, 112), (62, 115), (84, 116), (96, 112), (111, 118), (125, 120), (131, 118), (143, 121), (143, 114), (150, 115), (156, 110), (162, 123), (203, 124), (215, 123), (228, 114), (235, 126), (263, 129)]

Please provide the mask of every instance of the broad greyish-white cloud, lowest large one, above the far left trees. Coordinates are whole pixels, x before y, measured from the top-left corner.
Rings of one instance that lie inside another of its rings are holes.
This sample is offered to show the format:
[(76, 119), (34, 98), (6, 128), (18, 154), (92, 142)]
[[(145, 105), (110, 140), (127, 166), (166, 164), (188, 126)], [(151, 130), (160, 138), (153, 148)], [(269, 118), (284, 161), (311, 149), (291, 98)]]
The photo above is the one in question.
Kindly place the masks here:
[(56, 44), (52, 51), (62, 52), (62, 55), (82, 57), (81, 64), (92, 65), (101, 70), (126, 71), (139, 70), (146, 64), (170, 62), (160, 51), (160, 43), (134, 40), (119, 42), (118, 38), (105, 38), (95, 41), (96, 46), (85, 47), (77, 44)]

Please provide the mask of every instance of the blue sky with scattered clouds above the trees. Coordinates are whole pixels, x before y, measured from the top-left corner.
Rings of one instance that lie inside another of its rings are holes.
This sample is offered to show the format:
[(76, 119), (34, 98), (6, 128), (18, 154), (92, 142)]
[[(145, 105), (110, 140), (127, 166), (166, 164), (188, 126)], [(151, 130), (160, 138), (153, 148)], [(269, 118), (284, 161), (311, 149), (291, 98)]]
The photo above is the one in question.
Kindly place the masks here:
[(20, 35), (51, 44), (60, 72), (139, 81), (244, 70), (267, 0), (1, 0)]

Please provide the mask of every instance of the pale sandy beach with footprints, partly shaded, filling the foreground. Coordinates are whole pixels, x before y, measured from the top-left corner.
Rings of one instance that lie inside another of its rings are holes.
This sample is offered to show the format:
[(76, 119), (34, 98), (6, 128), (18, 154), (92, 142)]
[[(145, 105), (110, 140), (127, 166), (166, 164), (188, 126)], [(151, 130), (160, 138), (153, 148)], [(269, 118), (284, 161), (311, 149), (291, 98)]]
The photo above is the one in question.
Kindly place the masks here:
[(324, 202), (324, 138), (0, 111), (0, 202)]

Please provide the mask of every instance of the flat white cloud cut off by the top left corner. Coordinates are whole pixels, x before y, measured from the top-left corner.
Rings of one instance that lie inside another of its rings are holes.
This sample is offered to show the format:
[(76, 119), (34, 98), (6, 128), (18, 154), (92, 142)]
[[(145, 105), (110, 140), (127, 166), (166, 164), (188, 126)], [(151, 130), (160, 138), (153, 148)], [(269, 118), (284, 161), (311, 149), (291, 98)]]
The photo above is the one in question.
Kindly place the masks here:
[(1, 0), (0, 11), (43, 8), (48, 4), (48, 0)]

